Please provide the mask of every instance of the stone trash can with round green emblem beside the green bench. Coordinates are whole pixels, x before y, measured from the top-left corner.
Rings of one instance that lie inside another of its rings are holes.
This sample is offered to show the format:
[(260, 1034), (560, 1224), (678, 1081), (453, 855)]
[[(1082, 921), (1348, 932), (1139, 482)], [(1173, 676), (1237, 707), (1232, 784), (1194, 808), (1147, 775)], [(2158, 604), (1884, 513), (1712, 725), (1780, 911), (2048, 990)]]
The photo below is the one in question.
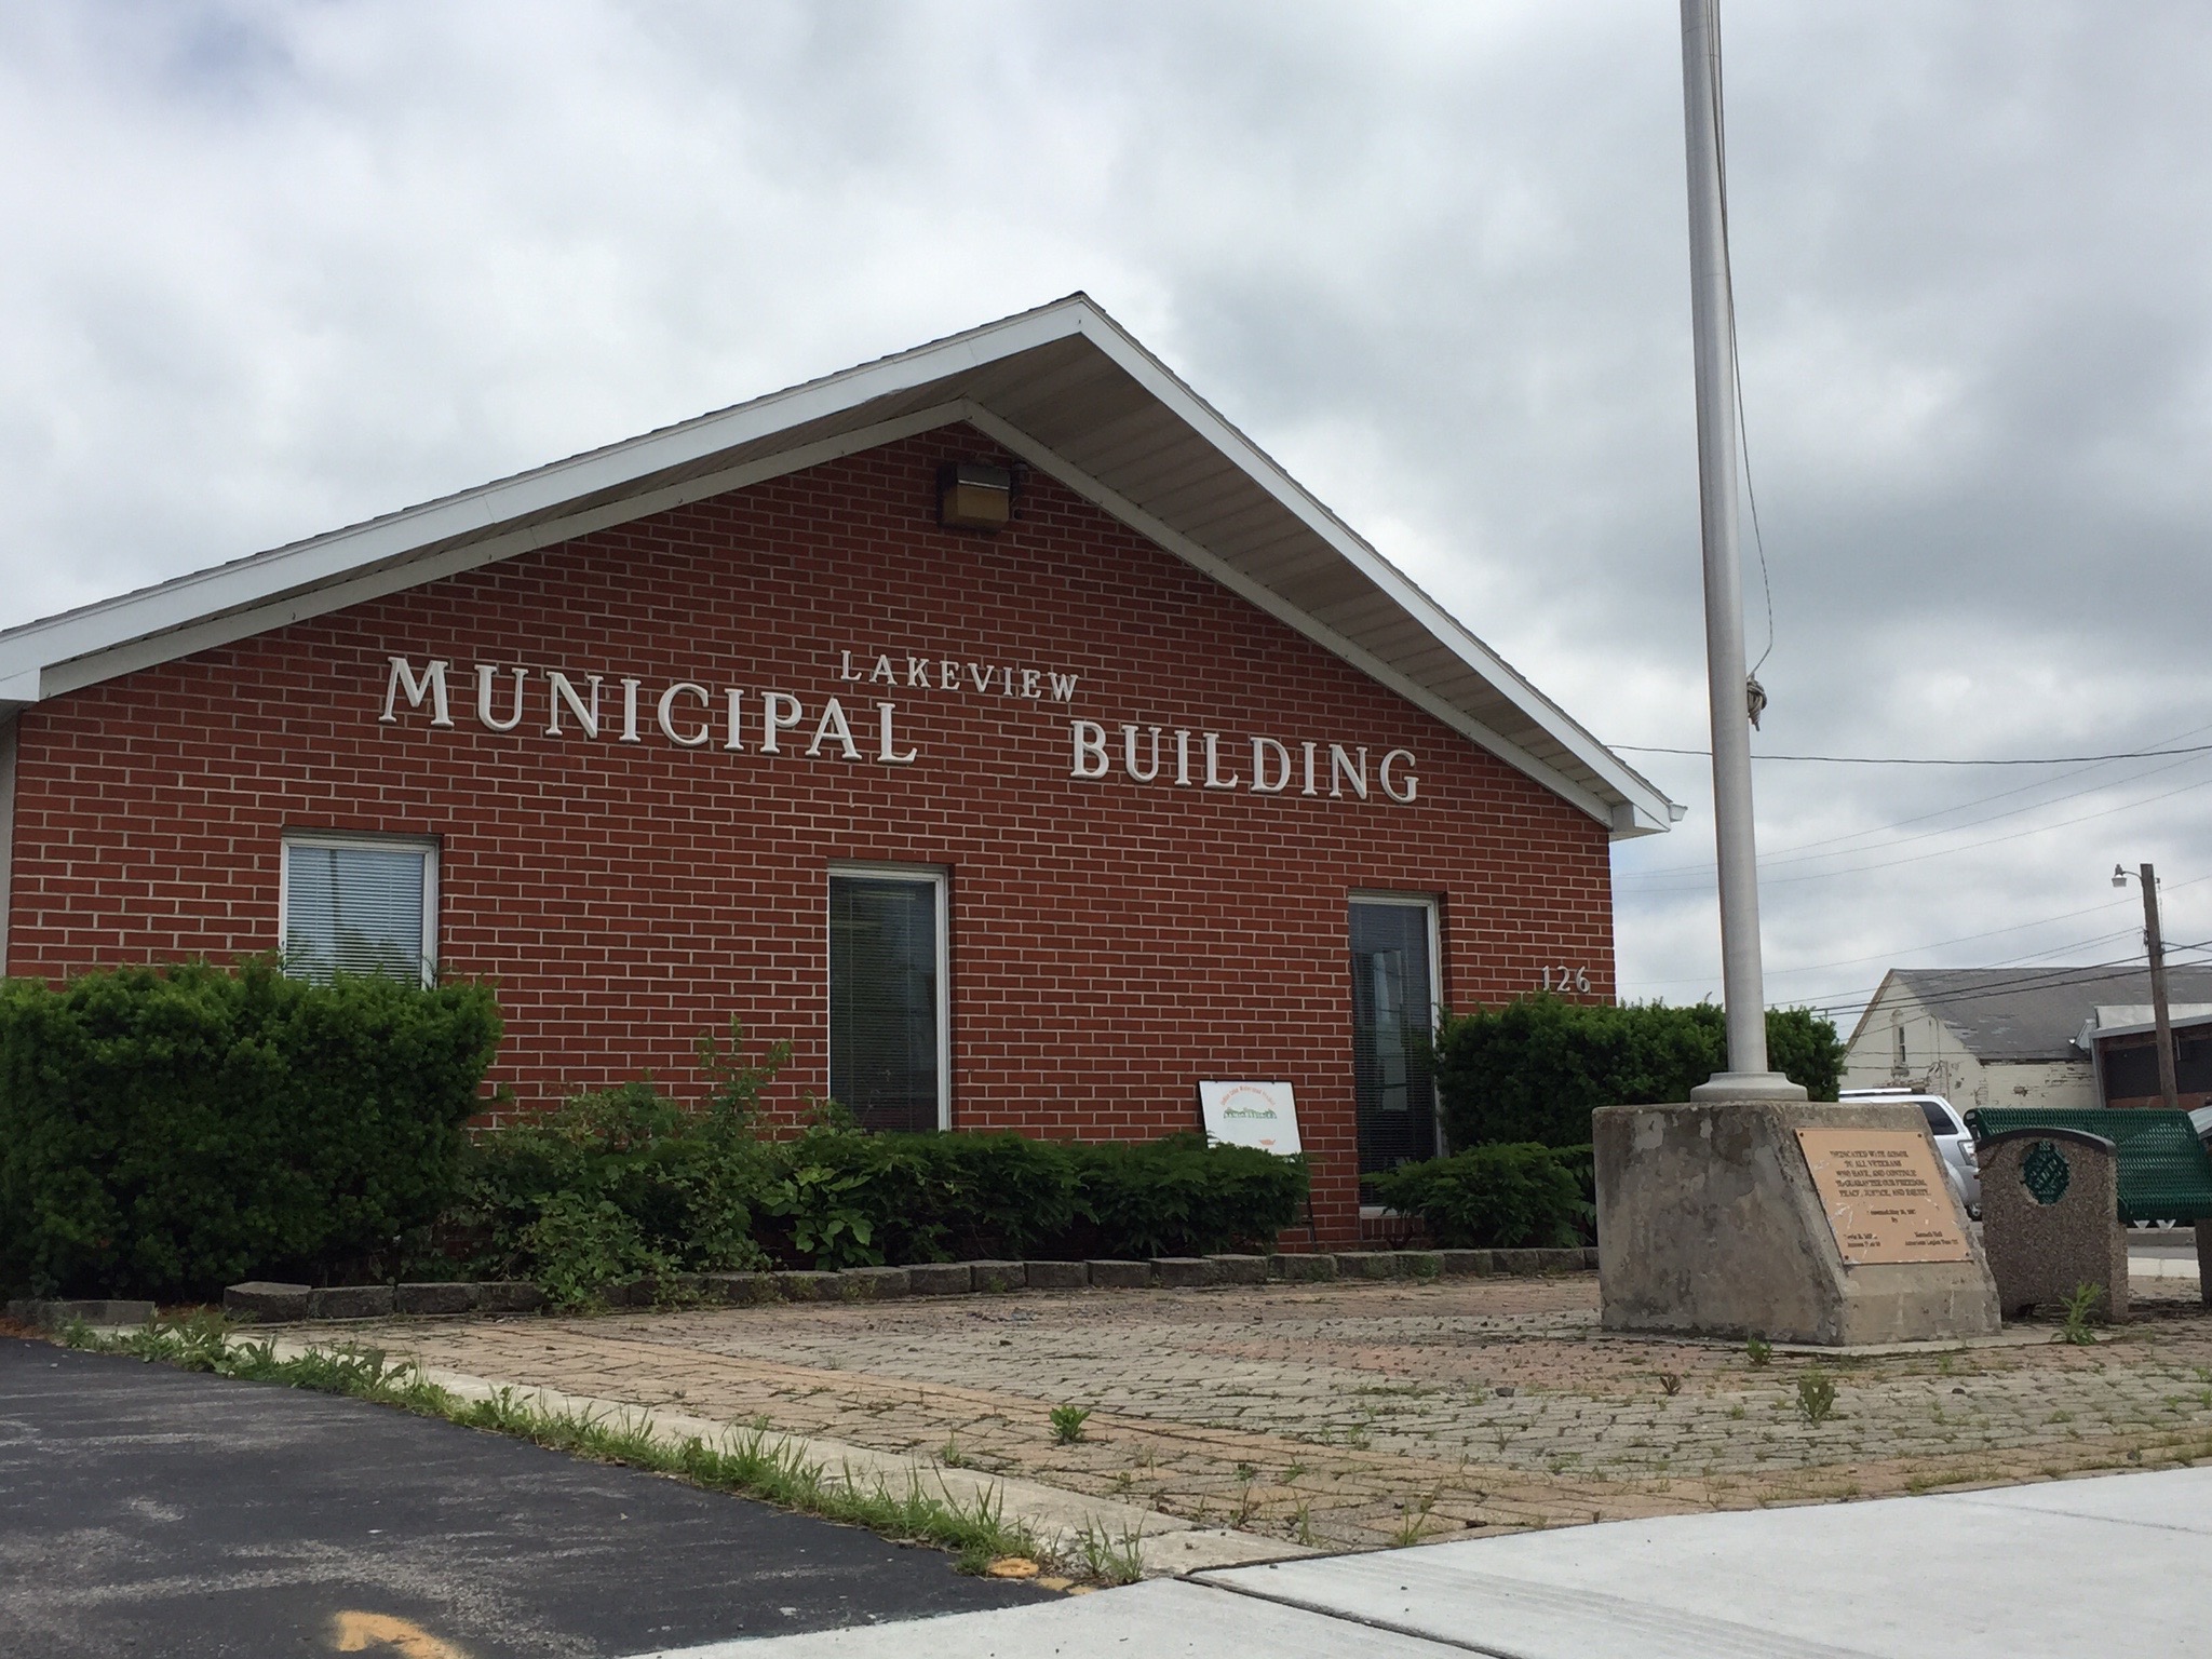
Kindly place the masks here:
[(2073, 1128), (2015, 1128), (1978, 1148), (1982, 1252), (1997, 1307), (2020, 1318), (2081, 1285), (2104, 1292), (2095, 1318), (2128, 1316), (2128, 1234), (2119, 1228), (2112, 1141)]

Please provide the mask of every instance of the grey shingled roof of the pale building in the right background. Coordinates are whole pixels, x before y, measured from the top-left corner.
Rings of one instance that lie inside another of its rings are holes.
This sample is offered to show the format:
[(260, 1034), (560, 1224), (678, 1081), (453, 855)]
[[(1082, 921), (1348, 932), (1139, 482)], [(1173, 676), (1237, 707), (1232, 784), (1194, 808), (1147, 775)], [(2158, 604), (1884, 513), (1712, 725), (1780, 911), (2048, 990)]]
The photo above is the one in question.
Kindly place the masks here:
[[(1975, 1060), (2081, 1060), (2084, 1022), (2099, 1004), (2148, 1004), (2150, 969), (1891, 969), (1858, 1015), (1854, 1044), (1876, 1009), (1896, 1004), (1893, 989), (1942, 1020)], [(2212, 969), (2166, 969), (2166, 993), (2177, 1004), (2212, 1002)]]

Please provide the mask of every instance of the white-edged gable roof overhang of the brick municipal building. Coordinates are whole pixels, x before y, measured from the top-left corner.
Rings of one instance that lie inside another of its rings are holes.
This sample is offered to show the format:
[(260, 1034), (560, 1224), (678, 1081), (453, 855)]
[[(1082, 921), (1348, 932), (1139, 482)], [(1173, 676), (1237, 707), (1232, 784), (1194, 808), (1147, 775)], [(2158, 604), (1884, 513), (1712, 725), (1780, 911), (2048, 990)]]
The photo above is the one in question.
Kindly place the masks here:
[(1615, 838), (1681, 818), (1681, 807), (1084, 294), (9, 628), (0, 633), (0, 714), (960, 420), (1568, 799)]

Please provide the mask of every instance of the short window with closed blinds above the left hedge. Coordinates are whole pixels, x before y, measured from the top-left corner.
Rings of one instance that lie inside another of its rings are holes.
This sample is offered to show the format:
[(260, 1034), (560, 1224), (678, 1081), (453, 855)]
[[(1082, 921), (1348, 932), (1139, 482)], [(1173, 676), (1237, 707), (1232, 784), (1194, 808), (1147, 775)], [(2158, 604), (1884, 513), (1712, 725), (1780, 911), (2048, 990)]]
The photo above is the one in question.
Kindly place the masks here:
[(276, 931), (296, 980), (389, 973), (436, 984), (436, 843), (285, 836)]

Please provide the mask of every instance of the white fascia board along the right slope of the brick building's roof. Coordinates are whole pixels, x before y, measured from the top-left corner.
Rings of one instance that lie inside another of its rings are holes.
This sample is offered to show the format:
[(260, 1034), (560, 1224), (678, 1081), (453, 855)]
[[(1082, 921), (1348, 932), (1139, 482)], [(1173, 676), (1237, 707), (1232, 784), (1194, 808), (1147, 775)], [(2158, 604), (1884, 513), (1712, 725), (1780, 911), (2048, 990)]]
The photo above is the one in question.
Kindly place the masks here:
[[(1303, 489), (1287, 471), (1283, 471), (1267, 451), (1245, 438), (1237, 427), (1232, 427), (1212, 405), (1206, 403), (1197, 392), (1183, 385), (1172, 369), (1168, 369), (1159, 358), (1146, 352), (1135, 338), (1121, 332), (1121, 327), (1097, 312), (1095, 307), (1084, 310), (1082, 319), (1084, 336), (1097, 345), (1106, 356), (1121, 367), (1133, 380), (1137, 380), (1146, 392), (1166, 403), (1177, 416), (1181, 416), (1199, 436), (1214, 445), (1221, 453), (1237, 462), (1245, 476), (1252, 478), (1261, 489), (1274, 495), (1285, 509), (1290, 509), (1314, 535), (1323, 538), (1336, 553), (1352, 564), (1360, 575), (1383, 588), (1407, 615), (1420, 622), (1438, 641), (1442, 641), (1460, 661), (1482, 675), (1491, 686), (1495, 686), (1515, 708), (1520, 708), (1531, 721), (1551, 732), (1559, 743), (1575, 754), (1577, 761), (1597, 772), (1606, 783), (1610, 783), (1626, 801), (1632, 801), (1639, 814), (1650, 823), (1650, 830), (1635, 830), (1632, 834), (1652, 834), (1666, 830), (1672, 823), (1672, 803), (1650, 785), (1650, 781), (1630, 772), (1604, 743), (1599, 743), (1590, 732), (1582, 730), (1566, 710), (1544, 697), (1535, 686), (1522, 679), (1498, 653), (1484, 646), (1475, 635), (1471, 635), (1449, 611), (1436, 604), (1427, 593), (1422, 593), (1413, 582), (1389, 560), (1376, 553), (1360, 535), (1345, 524), (1336, 513), (1323, 507), (1307, 489)], [(1374, 672), (1374, 670), (1369, 670)], [(1464, 723), (1453, 721), (1455, 726)], [(1504, 743), (1491, 734), (1491, 739), (1478, 739), (1486, 748), (1491, 743)], [(1509, 745), (1511, 748), (1511, 745)], [(1517, 752), (1517, 750), (1515, 750)], [(1504, 750), (1500, 750), (1504, 757)], [(1524, 772), (1531, 770), (1535, 761), (1526, 765), (1515, 761)], [(1548, 768), (1546, 768), (1548, 772)], [(1557, 776), (1557, 774), (1551, 774)], [(1553, 785), (1557, 787), (1557, 785)], [(1606, 812), (1597, 814), (1610, 818)]]

